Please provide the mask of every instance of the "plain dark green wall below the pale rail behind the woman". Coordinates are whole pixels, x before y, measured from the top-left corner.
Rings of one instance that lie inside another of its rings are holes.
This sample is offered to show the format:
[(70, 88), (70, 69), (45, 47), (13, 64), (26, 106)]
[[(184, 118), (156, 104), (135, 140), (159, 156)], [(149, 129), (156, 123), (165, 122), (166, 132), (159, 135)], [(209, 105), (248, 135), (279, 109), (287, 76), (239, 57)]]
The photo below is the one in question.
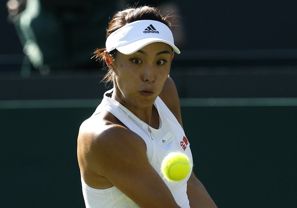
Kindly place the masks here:
[[(0, 207), (84, 207), (76, 140), (93, 110), (0, 110)], [(219, 207), (297, 207), (297, 106), (182, 113), (194, 172)]]

